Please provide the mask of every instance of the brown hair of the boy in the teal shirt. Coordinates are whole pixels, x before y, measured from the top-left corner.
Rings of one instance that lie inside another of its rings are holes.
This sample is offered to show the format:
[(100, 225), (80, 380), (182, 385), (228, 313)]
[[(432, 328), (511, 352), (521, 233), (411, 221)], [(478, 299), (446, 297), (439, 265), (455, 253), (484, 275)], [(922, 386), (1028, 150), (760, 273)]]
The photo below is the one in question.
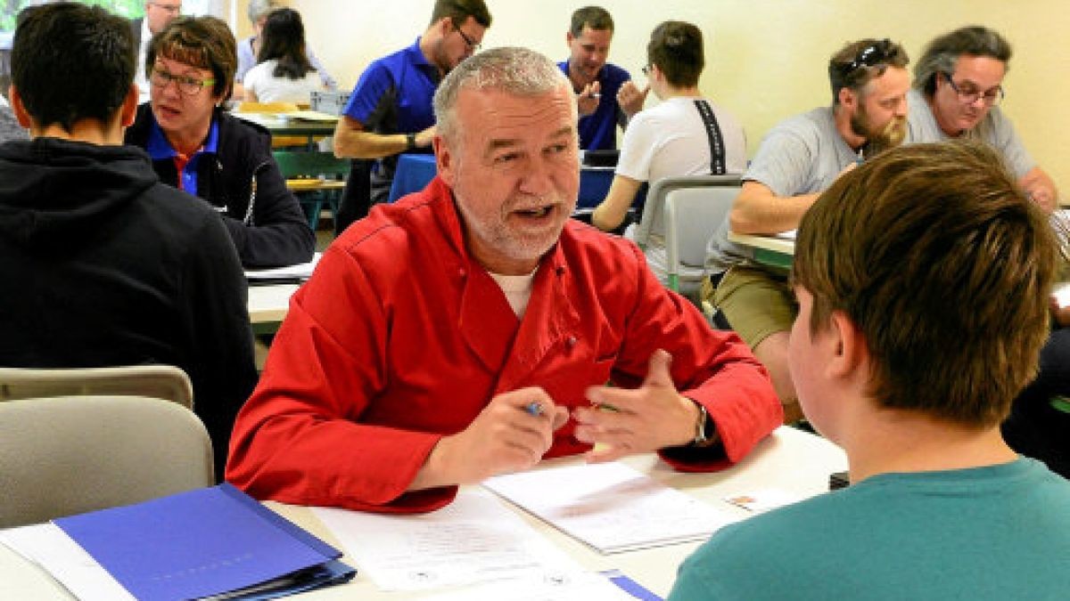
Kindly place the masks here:
[(792, 279), (813, 295), (811, 336), (832, 311), (859, 328), (881, 406), (988, 427), (1036, 375), (1057, 255), (993, 150), (915, 144), (821, 195)]

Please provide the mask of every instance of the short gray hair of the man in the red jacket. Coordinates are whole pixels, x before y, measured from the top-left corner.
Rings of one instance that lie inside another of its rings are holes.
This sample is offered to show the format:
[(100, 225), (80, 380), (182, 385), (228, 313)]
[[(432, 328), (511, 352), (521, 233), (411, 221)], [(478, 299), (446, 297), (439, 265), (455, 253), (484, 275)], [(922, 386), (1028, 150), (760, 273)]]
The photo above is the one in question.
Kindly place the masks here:
[(503, 47), (473, 55), (454, 67), (434, 92), (438, 133), (443, 138), (456, 139), (458, 124), (454, 107), (463, 89), (540, 96), (567, 84), (561, 68), (535, 50)]

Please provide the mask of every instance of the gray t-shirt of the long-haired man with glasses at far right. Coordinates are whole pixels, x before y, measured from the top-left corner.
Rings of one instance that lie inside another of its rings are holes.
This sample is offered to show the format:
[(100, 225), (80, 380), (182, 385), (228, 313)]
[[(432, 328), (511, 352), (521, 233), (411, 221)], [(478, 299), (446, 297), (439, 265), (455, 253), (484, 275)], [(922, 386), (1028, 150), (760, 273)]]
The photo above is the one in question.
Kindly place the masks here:
[[(904, 143), (943, 142), (951, 139), (939, 128), (936, 117), (921, 91), (911, 90), (906, 96), (910, 104), (907, 113), (910, 128)], [(1022, 144), (1022, 139), (1014, 133), (1014, 125), (999, 107), (992, 107), (980, 123), (961, 137), (980, 140), (998, 151), (1015, 178), (1022, 178), (1037, 166)]]

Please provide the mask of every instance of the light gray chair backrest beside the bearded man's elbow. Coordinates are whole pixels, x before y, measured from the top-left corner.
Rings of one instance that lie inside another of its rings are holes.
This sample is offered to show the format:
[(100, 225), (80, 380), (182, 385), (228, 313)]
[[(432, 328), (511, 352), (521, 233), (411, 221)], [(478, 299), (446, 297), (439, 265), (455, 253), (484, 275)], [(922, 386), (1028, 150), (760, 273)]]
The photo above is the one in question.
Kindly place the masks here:
[[(702, 271), (706, 246), (717, 228), (728, 219), (732, 203), (739, 195), (739, 179), (721, 185), (679, 187), (666, 195), (666, 272), (669, 288), (681, 290), (683, 267)], [(704, 272), (703, 272), (704, 273)]]

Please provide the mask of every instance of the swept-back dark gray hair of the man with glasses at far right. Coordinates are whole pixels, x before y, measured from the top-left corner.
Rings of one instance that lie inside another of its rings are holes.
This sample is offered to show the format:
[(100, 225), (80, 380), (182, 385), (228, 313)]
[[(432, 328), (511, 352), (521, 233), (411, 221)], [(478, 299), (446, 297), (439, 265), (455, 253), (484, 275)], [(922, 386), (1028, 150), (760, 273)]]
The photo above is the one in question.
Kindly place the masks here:
[(926, 46), (924, 53), (914, 65), (914, 88), (931, 96), (936, 91), (936, 76), (954, 73), (959, 57), (989, 57), (1009, 66), (1011, 48), (995, 30), (979, 25), (962, 27), (945, 33)]

